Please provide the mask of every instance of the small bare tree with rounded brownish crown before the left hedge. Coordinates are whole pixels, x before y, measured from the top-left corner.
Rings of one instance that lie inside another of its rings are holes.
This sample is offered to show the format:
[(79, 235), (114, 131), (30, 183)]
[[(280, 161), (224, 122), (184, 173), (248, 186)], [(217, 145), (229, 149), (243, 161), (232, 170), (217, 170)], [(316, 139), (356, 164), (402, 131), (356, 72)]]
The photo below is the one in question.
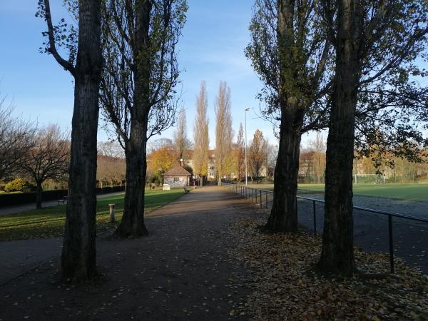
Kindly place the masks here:
[(21, 170), (36, 183), (36, 208), (41, 208), (44, 181), (64, 180), (69, 165), (68, 135), (55, 125), (39, 130), (31, 148), (19, 160)]

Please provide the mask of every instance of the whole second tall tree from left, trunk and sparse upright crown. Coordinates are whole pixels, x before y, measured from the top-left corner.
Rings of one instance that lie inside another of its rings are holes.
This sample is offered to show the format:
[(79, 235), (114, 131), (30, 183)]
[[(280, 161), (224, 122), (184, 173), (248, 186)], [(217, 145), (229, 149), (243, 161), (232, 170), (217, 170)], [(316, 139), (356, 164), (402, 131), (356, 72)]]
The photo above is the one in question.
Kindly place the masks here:
[(144, 224), (146, 146), (173, 125), (178, 63), (175, 46), (185, 0), (106, 1), (101, 103), (125, 150), (126, 194), (119, 238), (147, 235)]

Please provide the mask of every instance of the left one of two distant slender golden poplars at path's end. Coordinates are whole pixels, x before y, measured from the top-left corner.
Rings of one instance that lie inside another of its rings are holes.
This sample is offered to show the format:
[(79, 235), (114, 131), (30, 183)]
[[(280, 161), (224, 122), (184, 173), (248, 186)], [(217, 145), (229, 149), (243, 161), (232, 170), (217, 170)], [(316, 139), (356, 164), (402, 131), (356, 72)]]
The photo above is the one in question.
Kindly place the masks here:
[(203, 177), (208, 174), (208, 98), (205, 81), (200, 83), (199, 96), (196, 97), (196, 117), (193, 125), (193, 168), (199, 176), (199, 184), (203, 185)]

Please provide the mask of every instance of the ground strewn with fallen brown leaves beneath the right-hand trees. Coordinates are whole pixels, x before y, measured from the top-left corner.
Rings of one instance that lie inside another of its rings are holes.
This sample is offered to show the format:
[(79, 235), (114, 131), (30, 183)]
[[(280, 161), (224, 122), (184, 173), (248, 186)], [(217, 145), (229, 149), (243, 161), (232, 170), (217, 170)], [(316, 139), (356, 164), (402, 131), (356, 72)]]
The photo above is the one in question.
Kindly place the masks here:
[[(355, 251), (362, 273), (327, 278), (315, 272), (320, 236), (260, 233), (264, 220), (238, 220), (229, 230), (237, 245), (230, 256), (248, 267), (252, 294), (230, 315), (252, 320), (428, 320), (428, 277), (397, 260), (388, 274), (388, 256)], [(374, 275), (377, 273), (377, 275)], [(379, 274), (382, 273), (382, 274)]]

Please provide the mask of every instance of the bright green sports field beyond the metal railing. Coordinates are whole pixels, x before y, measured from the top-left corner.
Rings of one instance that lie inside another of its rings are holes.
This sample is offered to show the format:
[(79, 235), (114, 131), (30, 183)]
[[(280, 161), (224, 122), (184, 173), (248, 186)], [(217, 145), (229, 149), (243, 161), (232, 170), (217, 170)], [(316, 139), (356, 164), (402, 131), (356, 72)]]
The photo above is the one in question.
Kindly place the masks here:
[[(273, 190), (273, 184), (253, 184), (253, 188)], [(428, 202), (428, 184), (357, 184), (354, 195)], [(324, 184), (299, 184), (300, 193), (324, 193)]]

